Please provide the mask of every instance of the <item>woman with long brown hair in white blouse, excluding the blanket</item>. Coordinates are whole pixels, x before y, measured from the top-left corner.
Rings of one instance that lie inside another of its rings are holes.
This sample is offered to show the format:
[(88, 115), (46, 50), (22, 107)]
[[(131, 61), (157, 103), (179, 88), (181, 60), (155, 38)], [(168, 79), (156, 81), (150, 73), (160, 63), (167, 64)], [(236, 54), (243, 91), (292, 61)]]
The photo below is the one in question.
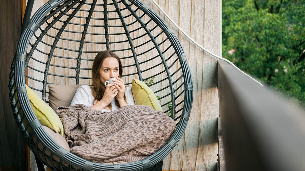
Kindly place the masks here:
[[(92, 85), (81, 85), (71, 102), (72, 105), (84, 104), (92, 109), (105, 112), (117, 110), (126, 105), (135, 105), (131, 89), (125, 87), (121, 79), (123, 73), (120, 58), (111, 51), (99, 52), (93, 61)], [(115, 78), (113, 84), (105, 81)], [(119, 93), (115, 93), (115, 91)]]

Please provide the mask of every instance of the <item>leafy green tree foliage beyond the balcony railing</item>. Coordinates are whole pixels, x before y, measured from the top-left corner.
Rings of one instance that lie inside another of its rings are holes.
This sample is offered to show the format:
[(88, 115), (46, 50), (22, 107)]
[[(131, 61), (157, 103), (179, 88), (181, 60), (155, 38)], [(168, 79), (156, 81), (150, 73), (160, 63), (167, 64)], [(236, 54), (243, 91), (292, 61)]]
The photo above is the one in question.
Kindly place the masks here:
[(305, 105), (305, 0), (222, 1), (222, 56)]

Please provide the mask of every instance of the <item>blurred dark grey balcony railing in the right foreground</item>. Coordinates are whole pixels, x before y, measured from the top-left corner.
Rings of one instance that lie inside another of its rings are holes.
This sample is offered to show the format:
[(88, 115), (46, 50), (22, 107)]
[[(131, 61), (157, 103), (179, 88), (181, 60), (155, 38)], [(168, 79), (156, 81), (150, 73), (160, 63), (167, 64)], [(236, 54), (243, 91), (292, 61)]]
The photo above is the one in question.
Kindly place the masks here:
[(218, 87), (219, 170), (305, 170), (302, 109), (225, 61), (218, 62)]

